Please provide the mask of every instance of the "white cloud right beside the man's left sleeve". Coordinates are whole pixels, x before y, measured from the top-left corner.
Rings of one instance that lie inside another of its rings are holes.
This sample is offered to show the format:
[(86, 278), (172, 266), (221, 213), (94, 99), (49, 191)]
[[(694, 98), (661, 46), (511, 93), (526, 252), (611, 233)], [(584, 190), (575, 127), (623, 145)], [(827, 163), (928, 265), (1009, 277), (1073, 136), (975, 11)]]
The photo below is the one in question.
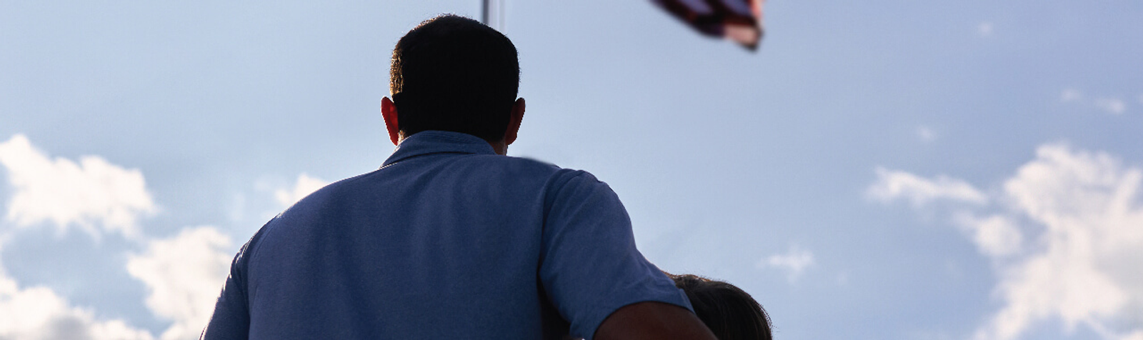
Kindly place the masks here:
[(127, 261), (127, 272), (147, 286), (147, 308), (174, 322), (161, 339), (199, 337), (230, 273), (230, 237), (213, 227), (185, 228), (149, 242), (146, 252)]

